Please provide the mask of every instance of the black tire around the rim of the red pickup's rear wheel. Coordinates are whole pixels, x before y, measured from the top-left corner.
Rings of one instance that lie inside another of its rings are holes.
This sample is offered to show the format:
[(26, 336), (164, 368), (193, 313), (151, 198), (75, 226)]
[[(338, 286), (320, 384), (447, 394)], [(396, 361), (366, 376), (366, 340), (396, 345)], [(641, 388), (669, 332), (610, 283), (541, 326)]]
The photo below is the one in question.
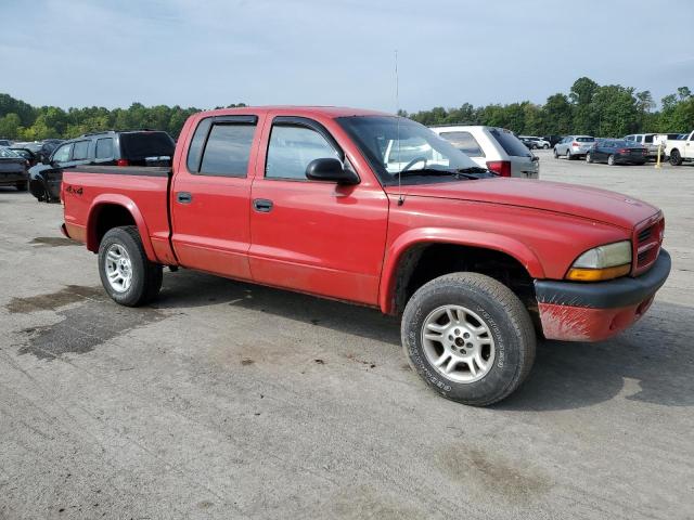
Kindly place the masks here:
[[(132, 281), (125, 291), (111, 286), (106, 275), (106, 251), (114, 244), (123, 247), (131, 262)], [(121, 306), (139, 307), (154, 300), (162, 288), (162, 265), (147, 260), (142, 239), (134, 225), (108, 230), (99, 245), (99, 275), (111, 298)]]

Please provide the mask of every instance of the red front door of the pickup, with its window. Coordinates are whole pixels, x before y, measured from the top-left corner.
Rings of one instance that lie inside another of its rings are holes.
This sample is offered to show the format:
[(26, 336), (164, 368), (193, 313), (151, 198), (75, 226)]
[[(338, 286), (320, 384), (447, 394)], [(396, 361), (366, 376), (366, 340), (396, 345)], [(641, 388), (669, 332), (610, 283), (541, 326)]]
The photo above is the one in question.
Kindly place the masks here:
[(313, 159), (336, 157), (351, 167), (335, 139), (312, 119), (274, 117), (265, 133), (268, 144), (252, 188), (254, 281), (377, 304), (388, 218), (383, 188), (308, 180), (306, 167)]

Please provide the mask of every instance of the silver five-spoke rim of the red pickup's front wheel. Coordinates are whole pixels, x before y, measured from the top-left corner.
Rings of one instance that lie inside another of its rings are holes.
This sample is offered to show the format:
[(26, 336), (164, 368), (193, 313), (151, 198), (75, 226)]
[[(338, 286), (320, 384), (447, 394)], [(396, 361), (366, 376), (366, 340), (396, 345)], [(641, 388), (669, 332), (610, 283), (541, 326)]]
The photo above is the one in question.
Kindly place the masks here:
[(478, 381), (494, 364), (494, 340), (489, 326), (461, 306), (442, 306), (426, 316), (422, 347), (430, 365), (454, 382)]

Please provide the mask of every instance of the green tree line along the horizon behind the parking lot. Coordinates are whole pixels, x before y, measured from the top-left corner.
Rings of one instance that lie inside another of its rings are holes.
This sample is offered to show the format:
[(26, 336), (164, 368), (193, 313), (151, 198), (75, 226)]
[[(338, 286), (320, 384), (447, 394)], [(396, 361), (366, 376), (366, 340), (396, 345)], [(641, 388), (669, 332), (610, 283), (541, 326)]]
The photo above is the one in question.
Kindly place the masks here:
[[(656, 104), (647, 90), (639, 92), (620, 84), (601, 86), (582, 77), (574, 82), (568, 94), (550, 95), (543, 105), (523, 101), (475, 107), (464, 103), (458, 108), (438, 106), (412, 114), (400, 110), (400, 115), (424, 125), (488, 125), (529, 135), (621, 136), (634, 132), (670, 133), (694, 129), (694, 95), (687, 87), (680, 87), (660, 101), (661, 108), (655, 110)], [(235, 106), (246, 105), (228, 105)], [(176, 138), (185, 119), (200, 110), (141, 103), (133, 103), (128, 108), (92, 106), (65, 110), (56, 106), (34, 107), (9, 94), (0, 94), (0, 138), (40, 141), (69, 139), (101, 130), (140, 128), (166, 130)]]

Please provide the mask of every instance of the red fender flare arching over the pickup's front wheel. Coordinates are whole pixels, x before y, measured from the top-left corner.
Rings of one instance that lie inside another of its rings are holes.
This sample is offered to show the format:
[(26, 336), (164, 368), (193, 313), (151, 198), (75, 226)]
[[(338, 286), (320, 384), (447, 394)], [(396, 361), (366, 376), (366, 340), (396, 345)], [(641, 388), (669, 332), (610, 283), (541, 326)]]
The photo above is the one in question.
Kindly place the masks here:
[(478, 247), (503, 252), (525, 268), (530, 277), (543, 278), (544, 270), (537, 255), (520, 240), (485, 231), (467, 231), (447, 227), (422, 227), (398, 236), (386, 249), (378, 287), (378, 307), (385, 314), (395, 312), (395, 288), (400, 261), (410, 248), (422, 244), (452, 244)]

